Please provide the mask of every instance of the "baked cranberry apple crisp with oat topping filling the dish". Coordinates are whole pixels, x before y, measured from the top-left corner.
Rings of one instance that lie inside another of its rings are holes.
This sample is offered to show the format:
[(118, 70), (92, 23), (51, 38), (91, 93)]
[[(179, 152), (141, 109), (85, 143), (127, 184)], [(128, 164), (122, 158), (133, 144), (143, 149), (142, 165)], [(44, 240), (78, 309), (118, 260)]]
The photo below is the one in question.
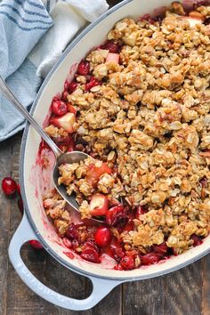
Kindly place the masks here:
[(77, 194), (72, 222), (52, 191), (44, 208), (59, 235), (86, 260), (101, 254), (131, 270), (182, 254), (210, 230), (210, 6), (124, 19), (88, 53), (52, 100), (45, 128), (64, 151), (90, 155), (60, 166)]

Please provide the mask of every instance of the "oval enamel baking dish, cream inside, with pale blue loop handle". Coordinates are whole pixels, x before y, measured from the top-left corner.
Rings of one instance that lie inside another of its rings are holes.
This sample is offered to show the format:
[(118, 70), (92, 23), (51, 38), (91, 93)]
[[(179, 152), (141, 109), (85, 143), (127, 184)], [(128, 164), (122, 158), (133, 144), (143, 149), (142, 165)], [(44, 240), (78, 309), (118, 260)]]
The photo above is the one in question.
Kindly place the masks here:
[[(55, 93), (61, 92), (66, 77), (69, 76), (71, 65), (85, 57), (94, 46), (101, 44), (110, 28), (125, 17), (134, 19), (145, 13), (151, 13), (154, 9), (163, 5), (171, 4), (172, 0), (125, 0), (117, 4), (109, 12), (106, 12), (100, 19), (96, 20), (81, 35), (69, 45), (63, 53), (61, 60), (52, 69), (44, 80), (39, 93), (37, 94), (31, 113), (36, 121), (43, 125), (44, 117), (47, 116), (52, 97)], [(188, 1), (189, 3), (189, 1)], [(70, 259), (64, 254), (61, 240), (52, 229), (52, 223), (48, 221), (42, 206), (43, 181), (48, 185), (47, 179), (42, 178), (39, 170), (36, 154), (40, 143), (40, 137), (31, 127), (27, 126), (23, 135), (20, 153), (20, 185), (24, 199), (25, 214), (18, 230), (16, 230), (10, 247), (9, 255), (15, 270), (20, 278), (37, 295), (58, 306), (70, 310), (86, 310), (92, 308), (96, 303), (109, 293), (118, 284), (130, 280), (149, 279), (178, 270), (189, 263), (193, 263), (209, 252), (210, 238), (206, 238), (201, 246), (190, 249), (187, 253), (174, 256), (164, 263), (150, 265), (133, 271), (115, 271), (108, 266), (95, 263), (88, 263), (81, 259)], [(35, 166), (36, 165), (36, 166)], [(85, 300), (76, 300), (60, 295), (52, 289), (45, 287), (30, 271), (20, 258), (20, 247), (29, 239), (38, 239), (44, 248), (58, 262), (75, 271), (85, 275), (93, 282), (93, 292)]]

